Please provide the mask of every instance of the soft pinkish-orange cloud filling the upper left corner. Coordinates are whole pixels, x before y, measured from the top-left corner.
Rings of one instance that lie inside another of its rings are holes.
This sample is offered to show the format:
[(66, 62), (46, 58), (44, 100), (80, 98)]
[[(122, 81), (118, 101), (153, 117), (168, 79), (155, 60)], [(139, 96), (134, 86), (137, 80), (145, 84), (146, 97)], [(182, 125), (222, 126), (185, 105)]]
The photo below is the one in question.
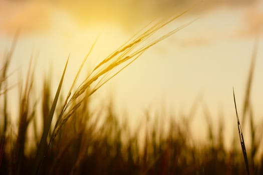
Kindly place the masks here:
[(50, 7), (40, 2), (0, 1), (0, 31), (14, 35), (46, 31), (50, 27)]

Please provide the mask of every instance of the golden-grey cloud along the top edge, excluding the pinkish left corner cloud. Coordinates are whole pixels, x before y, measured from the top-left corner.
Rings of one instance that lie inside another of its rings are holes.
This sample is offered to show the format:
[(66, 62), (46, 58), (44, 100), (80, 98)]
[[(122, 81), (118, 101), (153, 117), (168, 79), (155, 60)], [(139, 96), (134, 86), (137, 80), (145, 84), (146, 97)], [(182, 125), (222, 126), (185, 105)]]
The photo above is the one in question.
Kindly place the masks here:
[(178, 13), (194, 7), (188, 14), (209, 12), (218, 7), (240, 8), (251, 6), (258, 0), (64, 0), (59, 4), (81, 24), (91, 21), (118, 21), (132, 26), (158, 16)]

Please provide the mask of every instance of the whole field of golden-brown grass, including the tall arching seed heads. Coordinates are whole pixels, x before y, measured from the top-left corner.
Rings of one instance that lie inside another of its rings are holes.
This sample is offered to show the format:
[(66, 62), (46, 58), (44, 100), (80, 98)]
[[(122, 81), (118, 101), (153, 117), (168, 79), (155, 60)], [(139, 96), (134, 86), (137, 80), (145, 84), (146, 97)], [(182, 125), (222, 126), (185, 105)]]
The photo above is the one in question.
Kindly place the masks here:
[[(237, 132), (234, 132), (236, 135), (232, 147), (226, 149), (223, 121), (218, 122), (216, 135), (211, 122), (212, 115), (206, 108), (204, 114), (208, 126), (207, 142), (201, 145), (194, 142), (190, 124), (196, 108), (200, 105), (199, 98), (187, 115), (179, 116), (182, 120), (175, 120), (172, 114), (159, 114), (155, 119), (151, 119), (150, 114), (146, 112), (145, 121), (139, 123), (135, 131), (131, 131), (127, 119), (122, 122), (118, 119), (119, 116), (114, 113), (110, 101), (108, 105), (98, 106), (96, 111), (89, 110), (88, 106), (92, 100), (90, 96), (97, 89), (135, 61), (145, 50), (191, 23), (155, 39), (152, 37), (185, 12), (187, 11), (145, 28), (94, 66), (91, 73), (76, 87), (77, 79), (95, 42), (83, 59), (68, 95), (62, 98), (60, 91), (63, 88), (67, 60), (55, 96), (51, 95), (53, 88), (49, 85), (50, 79), (43, 80), (41, 113), (37, 112), (36, 107), (39, 100), (33, 95), (34, 66), (31, 63), (24, 85), (18, 86), (20, 108), (17, 130), (13, 130), (10, 121), (16, 116), (8, 112), (7, 93), (12, 87), (8, 83), (8, 68), (15, 49), (15, 37), (14, 44), (5, 55), (3, 67), (0, 69), (3, 121), (0, 124), (0, 174), (245, 174), (246, 170), (247, 173), (262, 174), (263, 154), (259, 152), (261, 137), (256, 137), (261, 130), (253, 122), (250, 103), (255, 54), (251, 59), (242, 117), (244, 120), (246, 115), (250, 116), (251, 146), (247, 152), (243, 136), (239, 134), (245, 166), (241, 150), (235, 141)], [(240, 129), (237, 110), (236, 117)], [(159, 121), (160, 118), (166, 119)], [(37, 120), (42, 120), (41, 132), (38, 131)], [(55, 121), (54, 125), (52, 121)], [(33, 125), (32, 129), (30, 124)], [(30, 142), (29, 132), (34, 135), (33, 142)], [(30, 149), (26, 152), (28, 147)], [(256, 159), (256, 156), (259, 158)], [(247, 157), (250, 157), (249, 161)]]

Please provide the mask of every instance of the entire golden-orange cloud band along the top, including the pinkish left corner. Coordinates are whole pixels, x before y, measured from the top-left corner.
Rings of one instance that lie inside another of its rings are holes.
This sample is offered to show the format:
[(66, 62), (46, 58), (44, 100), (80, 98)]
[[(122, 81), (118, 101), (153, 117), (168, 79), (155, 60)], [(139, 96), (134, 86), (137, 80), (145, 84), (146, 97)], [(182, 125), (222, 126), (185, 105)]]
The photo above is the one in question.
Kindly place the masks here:
[[(0, 32), (14, 34), (44, 32), (52, 28), (54, 11), (62, 10), (79, 27), (96, 22), (118, 22), (126, 29), (145, 24), (156, 16), (174, 14), (196, 4), (189, 15), (209, 12), (218, 7), (251, 6), (258, 0), (0, 0)], [(60, 22), (60, 21), (58, 21)]]

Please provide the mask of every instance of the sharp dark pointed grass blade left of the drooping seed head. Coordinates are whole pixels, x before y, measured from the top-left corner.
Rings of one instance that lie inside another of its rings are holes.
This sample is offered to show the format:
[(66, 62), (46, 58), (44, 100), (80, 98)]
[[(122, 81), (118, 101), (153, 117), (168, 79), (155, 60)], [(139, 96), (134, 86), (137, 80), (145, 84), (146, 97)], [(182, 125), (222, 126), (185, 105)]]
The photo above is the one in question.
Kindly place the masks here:
[(57, 102), (58, 102), (60, 90), (61, 90), (62, 83), (63, 83), (63, 80), (64, 80), (64, 75), (65, 75), (65, 72), (66, 72), (66, 69), (67, 69), (67, 65), (68, 65), (68, 61), (69, 61), (69, 57), (68, 57), (68, 60), (66, 62), (66, 65), (65, 65), (62, 77), (60, 79), (60, 83), (59, 83), (59, 86), (58, 86), (55, 98), (53, 100), (52, 107), (50, 109), (50, 113), (49, 113), (49, 116), (48, 116), (48, 121), (47, 121), (46, 128), (44, 128), (44, 130), (43, 130), (43, 134), (42, 134), (40, 145), (39, 145), (38, 152), (37, 152), (37, 155), (36, 155), (36, 161), (35, 161), (35, 164), (33, 166), (33, 173), (32, 174), (37, 174), (38, 173), (40, 165), (41, 165), (42, 161), (44, 160), (44, 151), (45, 151), (45, 145), (46, 145), (46, 141), (47, 141), (47, 136), (48, 136), (48, 133), (49, 133), (49, 130), (50, 130), (51, 121), (52, 121), (52, 118), (54, 116), (55, 108), (56, 108), (56, 105), (57, 105)]

